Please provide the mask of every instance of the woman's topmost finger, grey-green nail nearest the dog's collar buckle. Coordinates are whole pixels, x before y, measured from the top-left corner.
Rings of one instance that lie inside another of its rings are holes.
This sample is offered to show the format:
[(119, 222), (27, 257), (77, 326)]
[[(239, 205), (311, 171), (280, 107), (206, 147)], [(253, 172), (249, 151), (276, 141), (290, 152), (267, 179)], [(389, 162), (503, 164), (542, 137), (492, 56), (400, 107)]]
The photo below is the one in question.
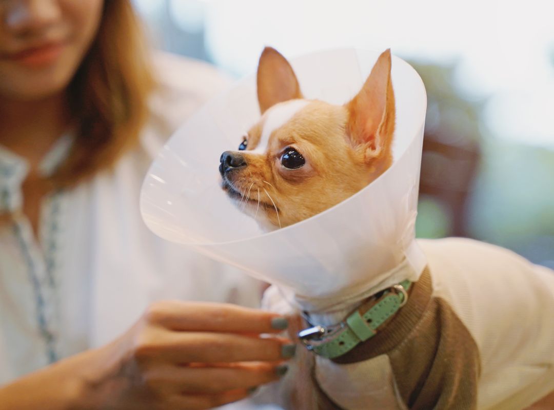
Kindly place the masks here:
[(280, 333), (288, 320), (276, 313), (224, 303), (157, 302), (148, 308), (146, 318), (167, 329), (178, 331), (217, 331), (228, 333)]

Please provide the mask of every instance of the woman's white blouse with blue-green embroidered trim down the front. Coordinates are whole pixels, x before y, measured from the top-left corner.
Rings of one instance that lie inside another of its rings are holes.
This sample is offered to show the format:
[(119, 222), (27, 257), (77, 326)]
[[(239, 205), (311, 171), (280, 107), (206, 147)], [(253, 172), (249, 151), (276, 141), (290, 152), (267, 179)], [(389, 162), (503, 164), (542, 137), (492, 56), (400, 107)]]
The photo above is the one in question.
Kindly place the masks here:
[[(227, 80), (210, 66), (156, 56), (161, 86), (139, 148), (112, 170), (42, 201), (38, 237), (19, 210), (25, 159), (0, 146), (0, 385), (127, 330), (154, 300), (259, 304), (259, 282), (161, 240), (139, 212), (142, 179), (157, 149)], [(71, 137), (40, 164), (53, 172)], [(193, 143), (193, 142), (191, 142)]]

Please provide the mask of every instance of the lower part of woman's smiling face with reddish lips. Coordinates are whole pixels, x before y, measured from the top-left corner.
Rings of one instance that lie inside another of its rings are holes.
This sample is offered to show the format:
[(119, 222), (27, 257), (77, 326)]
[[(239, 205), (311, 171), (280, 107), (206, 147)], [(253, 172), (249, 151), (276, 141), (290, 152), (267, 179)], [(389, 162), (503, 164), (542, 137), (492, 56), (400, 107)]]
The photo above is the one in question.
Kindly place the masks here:
[(0, 99), (37, 100), (63, 91), (94, 39), (103, 4), (0, 0)]

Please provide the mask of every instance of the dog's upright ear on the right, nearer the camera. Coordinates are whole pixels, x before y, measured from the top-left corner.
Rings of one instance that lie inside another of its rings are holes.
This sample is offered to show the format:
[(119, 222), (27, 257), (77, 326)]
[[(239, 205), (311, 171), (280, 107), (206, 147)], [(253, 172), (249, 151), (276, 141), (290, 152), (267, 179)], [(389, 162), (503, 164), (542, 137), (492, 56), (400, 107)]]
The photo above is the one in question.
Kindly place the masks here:
[(391, 50), (384, 51), (358, 94), (346, 104), (347, 134), (363, 147), (366, 160), (392, 159), (394, 92), (391, 82)]

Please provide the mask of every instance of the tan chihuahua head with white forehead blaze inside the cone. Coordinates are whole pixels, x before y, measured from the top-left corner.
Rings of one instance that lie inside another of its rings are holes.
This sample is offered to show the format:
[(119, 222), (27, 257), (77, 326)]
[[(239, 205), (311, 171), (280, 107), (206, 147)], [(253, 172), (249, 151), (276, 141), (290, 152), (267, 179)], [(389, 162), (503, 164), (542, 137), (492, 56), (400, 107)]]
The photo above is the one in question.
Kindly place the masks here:
[(258, 102), (260, 120), (238, 141), (238, 150), (221, 155), (219, 171), (223, 189), (265, 229), (340, 203), (392, 163), (390, 50), (379, 56), (360, 92), (336, 106), (305, 100), (289, 62), (265, 48)]

